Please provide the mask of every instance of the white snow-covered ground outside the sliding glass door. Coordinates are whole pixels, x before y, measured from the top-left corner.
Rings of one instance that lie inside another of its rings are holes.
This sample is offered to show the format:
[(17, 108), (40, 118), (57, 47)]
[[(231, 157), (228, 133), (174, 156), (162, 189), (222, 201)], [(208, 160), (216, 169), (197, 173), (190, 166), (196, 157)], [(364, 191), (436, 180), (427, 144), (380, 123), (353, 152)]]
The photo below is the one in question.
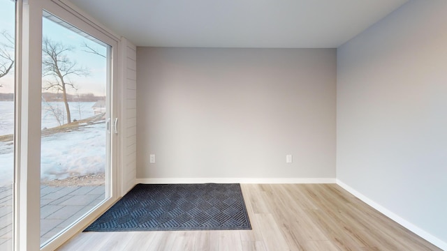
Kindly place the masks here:
[[(5, 103), (5, 104), (1, 104)], [(94, 102), (81, 102), (82, 119), (93, 115), (91, 105)], [(76, 105), (76, 104), (75, 104)], [(0, 102), (2, 125), (7, 125), (6, 102)], [(4, 112), (4, 113), (1, 113)], [(79, 112), (72, 109), (73, 119), (79, 119)], [(12, 118), (11, 118), (12, 119)], [(11, 125), (12, 125), (12, 121)], [(44, 116), (42, 128), (57, 126), (54, 117)], [(5, 133), (6, 132), (6, 133)], [(41, 178), (62, 179), (68, 176), (80, 176), (104, 172), (106, 164), (104, 121), (80, 126), (78, 130), (59, 132), (42, 138), (41, 142)], [(6, 130), (0, 135), (9, 134)], [(0, 142), (0, 185), (13, 180), (13, 142)]]

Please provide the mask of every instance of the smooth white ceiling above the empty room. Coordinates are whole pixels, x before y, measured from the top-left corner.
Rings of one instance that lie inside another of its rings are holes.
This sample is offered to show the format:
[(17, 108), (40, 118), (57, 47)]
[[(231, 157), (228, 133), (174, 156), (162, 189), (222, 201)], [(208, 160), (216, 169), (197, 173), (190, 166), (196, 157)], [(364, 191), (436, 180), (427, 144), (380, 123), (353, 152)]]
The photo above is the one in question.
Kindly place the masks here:
[(70, 0), (137, 46), (334, 48), (408, 0)]

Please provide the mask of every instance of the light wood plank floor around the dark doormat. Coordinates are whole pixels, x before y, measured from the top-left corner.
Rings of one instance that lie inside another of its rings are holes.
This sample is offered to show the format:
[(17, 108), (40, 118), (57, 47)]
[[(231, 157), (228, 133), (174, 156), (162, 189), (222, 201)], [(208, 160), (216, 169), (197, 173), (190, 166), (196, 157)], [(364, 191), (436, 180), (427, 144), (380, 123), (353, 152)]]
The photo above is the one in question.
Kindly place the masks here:
[(335, 184), (242, 184), (252, 230), (80, 233), (59, 250), (440, 250)]

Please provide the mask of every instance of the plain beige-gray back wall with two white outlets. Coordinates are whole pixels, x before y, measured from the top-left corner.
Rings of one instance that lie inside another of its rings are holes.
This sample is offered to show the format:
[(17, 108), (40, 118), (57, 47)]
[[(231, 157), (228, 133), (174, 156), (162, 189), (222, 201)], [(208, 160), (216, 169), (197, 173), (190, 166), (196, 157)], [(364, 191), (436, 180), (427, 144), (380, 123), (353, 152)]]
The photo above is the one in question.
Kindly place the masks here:
[(137, 178), (335, 179), (335, 49), (138, 47), (137, 61)]

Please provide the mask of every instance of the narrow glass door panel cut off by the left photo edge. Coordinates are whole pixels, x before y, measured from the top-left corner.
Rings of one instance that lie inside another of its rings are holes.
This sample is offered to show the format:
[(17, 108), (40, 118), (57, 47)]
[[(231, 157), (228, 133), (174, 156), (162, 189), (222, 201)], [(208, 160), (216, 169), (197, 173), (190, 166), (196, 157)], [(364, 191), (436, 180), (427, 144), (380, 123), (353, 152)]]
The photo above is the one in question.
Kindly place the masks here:
[(15, 1), (0, 0), (0, 250), (14, 248)]

